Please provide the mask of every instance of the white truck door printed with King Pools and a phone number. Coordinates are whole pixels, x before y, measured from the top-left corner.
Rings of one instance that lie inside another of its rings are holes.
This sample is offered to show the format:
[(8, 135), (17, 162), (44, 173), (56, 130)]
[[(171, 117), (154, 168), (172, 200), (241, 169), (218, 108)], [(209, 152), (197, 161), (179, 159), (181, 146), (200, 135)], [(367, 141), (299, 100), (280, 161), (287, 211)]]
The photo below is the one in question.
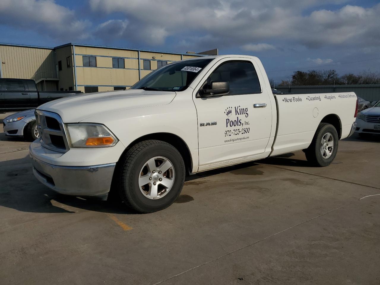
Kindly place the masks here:
[(272, 110), (268, 91), (261, 87), (265, 84), (260, 84), (264, 79), (256, 70), (260, 69), (253, 59), (220, 60), (202, 79), (200, 89), (211, 89), (212, 81), (228, 81), (229, 93), (202, 98), (195, 90), (199, 171), (264, 153), (271, 134)]

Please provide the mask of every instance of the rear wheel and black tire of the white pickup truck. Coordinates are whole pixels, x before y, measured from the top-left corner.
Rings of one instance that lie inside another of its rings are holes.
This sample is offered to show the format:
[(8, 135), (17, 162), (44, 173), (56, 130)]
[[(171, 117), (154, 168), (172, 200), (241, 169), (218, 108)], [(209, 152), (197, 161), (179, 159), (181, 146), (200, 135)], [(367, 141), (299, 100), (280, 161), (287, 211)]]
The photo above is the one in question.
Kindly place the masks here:
[[(326, 138), (327, 142), (325, 142)], [(336, 128), (329, 123), (320, 123), (312, 143), (305, 151), (307, 161), (313, 166), (322, 167), (330, 165), (336, 157), (338, 141)]]

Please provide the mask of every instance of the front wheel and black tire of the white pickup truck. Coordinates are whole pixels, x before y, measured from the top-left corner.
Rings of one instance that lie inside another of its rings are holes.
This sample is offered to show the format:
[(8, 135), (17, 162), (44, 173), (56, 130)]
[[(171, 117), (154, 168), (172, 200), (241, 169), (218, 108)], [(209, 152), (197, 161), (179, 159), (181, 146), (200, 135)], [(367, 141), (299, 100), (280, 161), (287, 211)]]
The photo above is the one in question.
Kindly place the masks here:
[[(170, 165), (164, 173), (160, 171)], [(182, 156), (171, 144), (158, 140), (135, 144), (120, 158), (116, 171), (114, 179), (121, 200), (141, 213), (169, 207), (181, 193), (185, 181)]]

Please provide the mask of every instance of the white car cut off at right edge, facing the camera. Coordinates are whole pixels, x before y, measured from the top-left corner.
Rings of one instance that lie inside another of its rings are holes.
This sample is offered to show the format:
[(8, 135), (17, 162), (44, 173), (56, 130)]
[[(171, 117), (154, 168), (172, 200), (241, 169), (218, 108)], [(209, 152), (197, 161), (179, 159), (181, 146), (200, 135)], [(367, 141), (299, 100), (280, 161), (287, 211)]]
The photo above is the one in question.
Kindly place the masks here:
[(358, 113), (356, 132), (359, 136), (380, 134), (380, 101), (375, 106)]

